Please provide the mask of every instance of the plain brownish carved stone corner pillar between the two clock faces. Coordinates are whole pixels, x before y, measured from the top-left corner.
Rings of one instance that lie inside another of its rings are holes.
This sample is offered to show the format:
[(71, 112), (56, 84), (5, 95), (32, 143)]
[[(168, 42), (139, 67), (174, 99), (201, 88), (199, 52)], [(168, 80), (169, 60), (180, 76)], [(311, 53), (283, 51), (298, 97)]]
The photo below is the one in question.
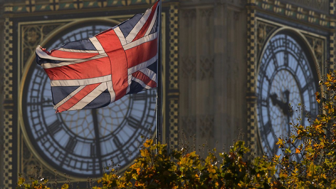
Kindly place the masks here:
[(206, 2), (181, 5), (180, 130), (220, 148), (247, 130), (246, 12), (238, 0)]

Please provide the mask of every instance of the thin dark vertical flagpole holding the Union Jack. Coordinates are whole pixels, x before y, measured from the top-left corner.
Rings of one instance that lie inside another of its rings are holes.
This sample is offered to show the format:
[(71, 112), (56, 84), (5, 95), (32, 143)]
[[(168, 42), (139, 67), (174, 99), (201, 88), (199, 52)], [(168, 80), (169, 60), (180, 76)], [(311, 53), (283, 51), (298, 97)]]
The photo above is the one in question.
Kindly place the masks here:
[(162, 0), (160, 0), (160, 27), (159, 27), (159, 51), (158, 51), (158, 89), (157, 89), (157, 116), (156, 116), (156, 142), (162, 143), (162, 48), (161, 48), (161, 23), (162, 23)]

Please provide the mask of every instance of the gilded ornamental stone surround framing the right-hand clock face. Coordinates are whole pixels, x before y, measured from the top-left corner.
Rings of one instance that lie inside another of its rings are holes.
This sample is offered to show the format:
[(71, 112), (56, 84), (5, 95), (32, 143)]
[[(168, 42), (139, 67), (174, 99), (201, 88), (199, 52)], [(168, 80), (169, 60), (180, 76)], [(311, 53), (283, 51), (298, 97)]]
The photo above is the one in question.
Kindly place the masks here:
[[(335, 2), (331, 0), (329, 6), (329, 13), (334, 15)], [(308, 47), (307, 49), (309, 49), (309, 55), (313, 57), (314, 65), (316, 68), (320, 69), (318, 77), (321, 77), (321, 74), (324, 74), (326, 71), (324, 68), (324, 62), (326, 60), (334, 62), (335, 29), (333, 28), (335, 27), (335, 20), (326, 16), (326, 14), (317, 13), (304, 7), (277, 0), (248, 0), (247, 15), (248, 91), (246, 98), (248, 115), (247, 127), (249, 130), (248, 140), (251, 150), (255, 154), (260, 154), (262, 153), (262, 150), (259, 140), (260, 133), (257, 129), (256, 77), (258, 75), (259, 61), (261, 55), (263, 54), (264, 46), (267, 45), (272, 36), (282, 30), (287, 30), (300, 36), (302, 41), (305, 43), (304, 45)], [(275, 17), (278, 20), (286, 19), (286, 21), (291, 21), (300, 25), (308, 25), (316, 31), (321, 30), (330, 34), (329, 36), (321, 35), (303, 29), (294, 28), (281, 22), (270, 21), (260, 15)], [(328, 49), (329, 52), (327, 52)], [(328, 53), (329, 57), (327, 56)], [(330, 65), (330, 68), (333, 69), (333, 65)]]

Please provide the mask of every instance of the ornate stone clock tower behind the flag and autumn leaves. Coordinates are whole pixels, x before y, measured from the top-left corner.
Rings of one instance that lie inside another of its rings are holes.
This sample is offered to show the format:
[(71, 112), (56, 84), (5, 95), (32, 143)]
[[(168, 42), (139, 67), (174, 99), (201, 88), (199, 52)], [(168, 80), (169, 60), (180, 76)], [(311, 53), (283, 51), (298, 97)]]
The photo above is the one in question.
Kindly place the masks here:
[[(154, 2), (0, 0), (0, 188), (15, 188), (33, 166), (77, 183), (111, 160), (121, 170), (132, 162), (141, 135), (155, 133), (155, 89), (54, 114), (34, 50), (93, 36)], [(317, 115), (317, 83), (334, 69), (325, 61), (335, 62), (336, 0), (163, 0), (162, 11), (162, 138), (170, 147), (227, 150), (243, 139), (255, 155), (278, 153), (292, 116), (308, 124), (306, 112)], [(289, 103), (304, 112), (290, 115)]]

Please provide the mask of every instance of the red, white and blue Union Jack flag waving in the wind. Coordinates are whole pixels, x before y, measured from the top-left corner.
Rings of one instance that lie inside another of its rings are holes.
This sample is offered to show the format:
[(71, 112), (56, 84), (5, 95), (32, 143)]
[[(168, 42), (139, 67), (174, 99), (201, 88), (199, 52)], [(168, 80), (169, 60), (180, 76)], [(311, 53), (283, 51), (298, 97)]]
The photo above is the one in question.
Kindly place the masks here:
[(36, 62), (50, 78), (56, 113), (104, 107), (157, 86), (159, 1), (88, 39), (50, 52), (36, 47)]

